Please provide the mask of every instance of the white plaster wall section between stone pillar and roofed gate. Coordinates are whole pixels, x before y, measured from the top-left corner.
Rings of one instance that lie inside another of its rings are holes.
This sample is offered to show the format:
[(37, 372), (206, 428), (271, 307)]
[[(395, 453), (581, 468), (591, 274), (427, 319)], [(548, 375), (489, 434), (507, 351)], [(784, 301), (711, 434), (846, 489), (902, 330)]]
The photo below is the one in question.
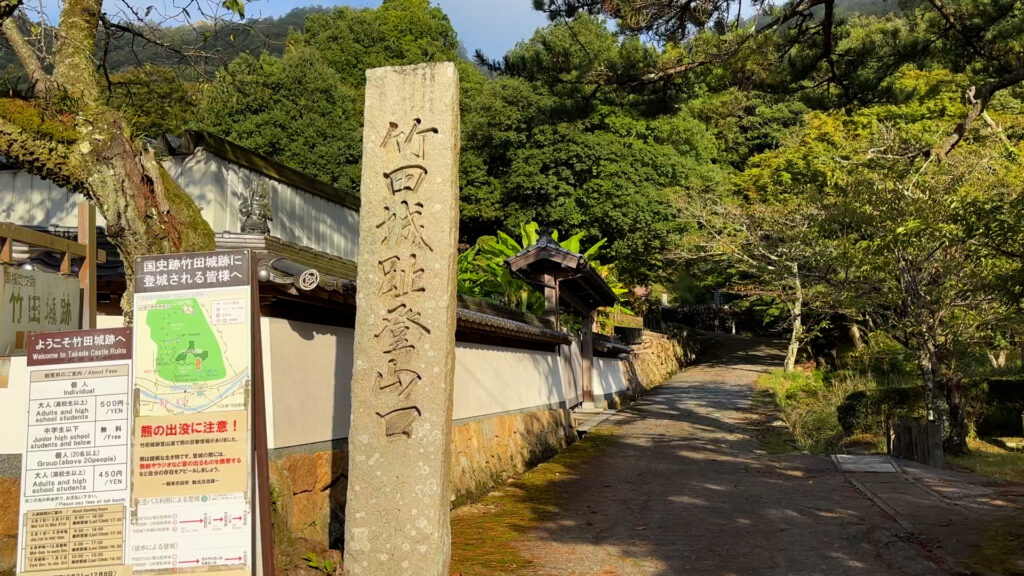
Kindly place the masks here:
[(565, 402), (554, 352), (459, 343), (453, 418), (472, 418)]

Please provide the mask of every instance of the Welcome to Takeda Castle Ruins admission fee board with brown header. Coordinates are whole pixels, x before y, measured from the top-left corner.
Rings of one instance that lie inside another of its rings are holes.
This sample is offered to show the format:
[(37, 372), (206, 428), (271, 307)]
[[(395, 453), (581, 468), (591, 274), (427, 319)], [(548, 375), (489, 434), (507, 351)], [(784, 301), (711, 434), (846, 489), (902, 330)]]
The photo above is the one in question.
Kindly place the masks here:
[(131, 329), (31, 334), (17, 572), (123, 576)]

